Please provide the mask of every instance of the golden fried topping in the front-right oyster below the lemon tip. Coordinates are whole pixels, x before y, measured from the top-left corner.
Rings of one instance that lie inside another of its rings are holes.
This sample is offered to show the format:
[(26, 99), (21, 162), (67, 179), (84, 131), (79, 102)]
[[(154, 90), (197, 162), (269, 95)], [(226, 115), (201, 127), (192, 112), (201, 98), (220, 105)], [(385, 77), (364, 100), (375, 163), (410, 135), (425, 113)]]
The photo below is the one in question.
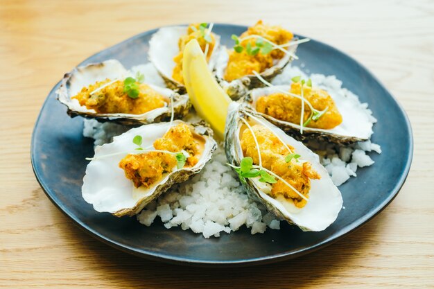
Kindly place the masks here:
[[(311, 179), (320, 179), (320, 175), (313, 170), (309, 162), (292, 159), (287, 163), (285, 157), (289, 154), (288, 150), (268, 128), (263, 125), (253, 125), (252, 130), (259, 143), (263, 168), (271, 170), (282, 179), (285, 179), (286, 182), (307, 198), (311, 189)], [(252, 132), (248, 128), (245, 128), (241, 134), (241, 148), (245, 157), (252, 157), (253, 164), (259, 165), (256, 143)], [(294, 152), (294, 148), (290, 146), (289, 148)], [(277, 183), (272, 184), (270, 195), (273, 198), (276, 198), (277, 195), (283, 195), (284, 198), (293, 200), (295, 206), (300, 208), (306, 204), (306, 200), (280, 179)]]

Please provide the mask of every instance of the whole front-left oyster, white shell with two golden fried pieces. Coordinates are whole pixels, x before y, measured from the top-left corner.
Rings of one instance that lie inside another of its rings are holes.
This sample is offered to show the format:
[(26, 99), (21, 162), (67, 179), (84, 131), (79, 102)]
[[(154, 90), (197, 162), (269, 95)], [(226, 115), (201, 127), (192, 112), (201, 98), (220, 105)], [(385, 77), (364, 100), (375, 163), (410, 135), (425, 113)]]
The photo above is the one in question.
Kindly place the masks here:
[(133, 216), (173, 184), (202, 170), (216, 149), (204, 123), (152, 123), (95, 148), (82, 195), (98, 212)]

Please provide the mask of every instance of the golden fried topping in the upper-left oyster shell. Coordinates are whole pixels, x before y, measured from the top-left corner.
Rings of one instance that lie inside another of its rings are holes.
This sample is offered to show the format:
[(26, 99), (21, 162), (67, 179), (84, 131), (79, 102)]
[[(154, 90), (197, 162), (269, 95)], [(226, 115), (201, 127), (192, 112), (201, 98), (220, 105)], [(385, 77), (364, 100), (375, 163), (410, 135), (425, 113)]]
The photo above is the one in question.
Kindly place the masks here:
[[(95, 110), (100, 114), (144, 114), (158, 107), (164, 107), (166, 100), (164, 96), (145, 84), (139, 84), (139, 96), (130, 98), (124, 92), (122, 80), (117, 80), (110, 85), (103, 87), (110, 82), (110, 79), (98, 81), (89, 87), (83, 87), (81, 91), (72, 98), (78, 100), (80, 105), (85, 105), (89, 110)], [(95, 91), (99, 89), (95, 93)]]

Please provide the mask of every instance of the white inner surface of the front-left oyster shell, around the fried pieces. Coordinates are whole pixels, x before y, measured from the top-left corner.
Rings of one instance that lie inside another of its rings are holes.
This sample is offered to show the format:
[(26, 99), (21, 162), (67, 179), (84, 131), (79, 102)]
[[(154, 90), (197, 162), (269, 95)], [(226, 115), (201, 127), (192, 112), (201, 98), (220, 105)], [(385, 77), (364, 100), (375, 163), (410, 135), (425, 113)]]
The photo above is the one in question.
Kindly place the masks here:
[[(172, 126), (179, 123), (182, 121), (173, 121)], [(166, 182), (172, 173), (166, 174), (162, 180), (148, 189), (142, 187), (136, 189), (132, 181), (125, 177), (123, 169), (119, 168), (119, 161), (128, 153), (137, 152), (135, 150), (137, 145), (132, 143), (136, 135), (143, 138), (142, 147), (153, 146), (155, 139), (162, 137), (168, 128), (170, 128), (169, 123), (142, 125), (114, 137), (112, 143), (97, 146), (94, 155), (96, 159), (87, 165), (86, 175), (83, 178), (82, 194), (85, 201), (93, 204), (94, 209), (98, 212), (115, 213), (122, 209), (131, 209), (142, 199), (152, 195), (156, 187)], [(205, 148), (198, 164), (193, 168), (182, 168), (181, 170), (194, 170), (205, 164), (207, 158), (210, 157), (214, 141), (209, 141), (205, 136), (204, 138)], [(103, 157), (105, 155), (107, 157)]]

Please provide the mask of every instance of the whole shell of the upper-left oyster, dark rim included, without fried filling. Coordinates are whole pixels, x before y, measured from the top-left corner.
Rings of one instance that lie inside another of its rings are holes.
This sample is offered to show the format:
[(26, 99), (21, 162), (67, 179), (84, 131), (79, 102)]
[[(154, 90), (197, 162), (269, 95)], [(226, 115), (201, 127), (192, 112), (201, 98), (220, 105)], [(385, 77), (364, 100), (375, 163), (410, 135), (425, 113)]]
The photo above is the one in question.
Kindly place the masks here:
[[(118, 60), (107, 60), (101, 63), (93, 63), (87, 64), (83, 67), (77, 67), (64, 75), (62, 83), (58, 91), (56, 91), (58, 94), (58, 100), (60, 103), (68, 107), (68, 114), (71, 117), (80, 115), (99, 120), (116, 121), (117, 123), (125, 125), (156, 123), (170, 119), (170, 105), (159, 107), (144, 114), (101, 114), (95, 112), (95, 110), (89, 110), (85, 105), (80, 105), (78, 100), (71, 98), (78, 94), (83, 87), (87, 87), (96, 81), (105, 80), (106, 78), (110, 78), (111, 80), (116, 78), (125, 78), (129, 76), (129, 74), (130, 72), (125, 69)], [(175, 119), (180, 119), (188, 114), (191, 107), (188, 95), (180, 95), (171, 89), (157, 87), (155, 85), (149, 84), (149, 86), (162, 96), (165, 96), (168, 102), (169, 99), (173, 97), (173, 112), (175, 114)]]

